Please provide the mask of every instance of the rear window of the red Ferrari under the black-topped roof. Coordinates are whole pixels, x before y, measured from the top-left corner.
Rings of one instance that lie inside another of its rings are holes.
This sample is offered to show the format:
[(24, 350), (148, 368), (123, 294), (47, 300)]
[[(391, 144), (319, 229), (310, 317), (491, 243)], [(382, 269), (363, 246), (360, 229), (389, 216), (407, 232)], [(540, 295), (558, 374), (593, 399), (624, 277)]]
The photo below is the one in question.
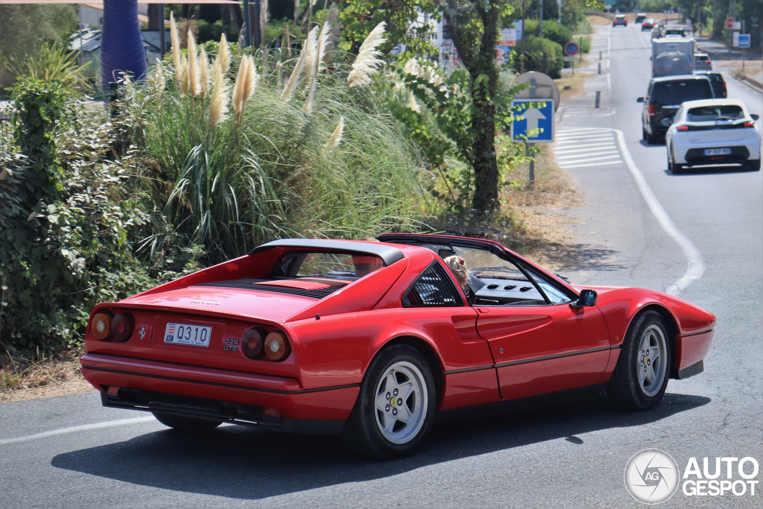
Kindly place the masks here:
[(275, 264), (271, 277), (355, 281), (384, 266), (377, 256), (356, 253), (285, 253)]

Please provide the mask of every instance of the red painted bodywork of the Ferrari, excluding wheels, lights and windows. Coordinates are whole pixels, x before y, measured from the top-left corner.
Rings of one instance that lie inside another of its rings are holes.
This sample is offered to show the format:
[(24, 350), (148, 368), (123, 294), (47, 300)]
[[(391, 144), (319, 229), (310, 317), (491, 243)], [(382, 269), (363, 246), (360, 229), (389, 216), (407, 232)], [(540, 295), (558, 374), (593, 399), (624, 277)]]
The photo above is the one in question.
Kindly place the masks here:
[[(416, 237), (420, 236), (410, 239)], [(433, 243), (465, 240), (427, 238)], [(577, 294), (582, 288), (500, 243), (470, 241), (508, 253), (571, 292)], [(82, 373), (101, 391), (133, 388), (272, 408), (289, 419), (342, 421), (352, 411), (370, 362), (391, 342), (415, 344), (430, 354), (439, 379), (438, 408), (445, 411), (607, 382), (629, 325), (647, 307), (672, 321), (673, 375), (700, 362), (713, 340), (712, 314), (644, 288), (588, 286), (596, 290), (598, 301), (584, 308), (566, 304), (405, 308), (402, 296), (439, 256), (419, 246), (383, 245), (397, 248), (403, 258), (320, 299), (266, 292), (257, 289), (257, 283), (253, 288), (198, 286), (266, 277), (288, 250), (274, 247), (118, 303), (98, 304), (91, 322), (101, 311), (130, 311), (134, 333), (124, 343), (101, 341), (89, 325)], [(278, 284), (311, 288), (313, 283)], [(466, 302), (463, 293), (461, 297)], [(164, 343), (168, 322), (212, 327), (208, 346)], [(250, 359), (240, 347), (226, 342), (240, 339), (253, 325), (267, 332), (282, 330), (291, 345), (290, 355), (282, 362)]]

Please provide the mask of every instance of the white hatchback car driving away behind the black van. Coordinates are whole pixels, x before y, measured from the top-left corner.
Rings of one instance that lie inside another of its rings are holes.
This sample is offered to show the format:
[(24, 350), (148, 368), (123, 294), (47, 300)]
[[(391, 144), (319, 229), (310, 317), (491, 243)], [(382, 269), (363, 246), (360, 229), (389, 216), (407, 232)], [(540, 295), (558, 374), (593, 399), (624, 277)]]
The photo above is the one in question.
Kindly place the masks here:
[(665, 118), (668, 169), (681, 173), (686, 166), (739, 163), (761, 169), (761, 131), (758, 115), (749, 114), (739, 99), (686, 101), (675, 117)]

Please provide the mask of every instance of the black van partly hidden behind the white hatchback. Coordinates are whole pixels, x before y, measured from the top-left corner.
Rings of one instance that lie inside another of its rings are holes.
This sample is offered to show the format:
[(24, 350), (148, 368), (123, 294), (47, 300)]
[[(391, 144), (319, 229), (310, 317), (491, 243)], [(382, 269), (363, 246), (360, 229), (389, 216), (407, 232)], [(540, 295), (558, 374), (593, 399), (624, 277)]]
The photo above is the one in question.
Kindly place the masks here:
[(665, 118), (673, 118), (681, 103), (699, 99), (713, 99), (713, 86), (710, 79), (703, 75), (663, 76), (652, 78), (645, 97), (637, 102), (644, 103), (641, 124), (646, 143), (656, 143), (665, 136), (668, 126), (662, 124)]

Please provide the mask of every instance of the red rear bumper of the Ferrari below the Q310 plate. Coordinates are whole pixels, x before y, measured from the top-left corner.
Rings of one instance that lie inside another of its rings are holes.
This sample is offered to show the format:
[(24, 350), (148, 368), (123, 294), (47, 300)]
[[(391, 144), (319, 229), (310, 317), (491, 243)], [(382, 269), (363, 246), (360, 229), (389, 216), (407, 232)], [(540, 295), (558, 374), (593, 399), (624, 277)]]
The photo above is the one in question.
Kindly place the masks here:
[[(100, 353), (88, 353), (80, 362), (82, 375), (99, 391), (116, 386), (147, 391), (152, 395), (274, 408), (285, 419), (343, 421), (352, 411), (359, 391), (359, 385), (303, 389), (298, 379), (288, 377)], [(115, 406), (118, 398), (115, 401), (110, 398), (108, 402), (108, 406)], [(132, 402), (121, 401), (119, 404), (124, 407), (125, 403)]]

